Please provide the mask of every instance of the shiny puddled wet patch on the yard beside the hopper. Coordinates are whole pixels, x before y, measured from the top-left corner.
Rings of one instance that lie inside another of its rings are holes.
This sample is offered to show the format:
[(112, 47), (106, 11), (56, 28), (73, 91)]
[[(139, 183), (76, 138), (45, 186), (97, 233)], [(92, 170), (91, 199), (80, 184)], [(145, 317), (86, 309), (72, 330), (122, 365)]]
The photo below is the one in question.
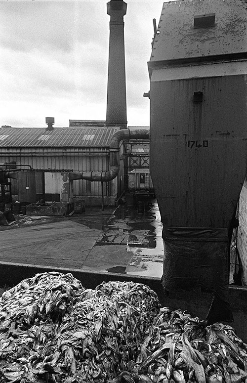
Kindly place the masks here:
[(104, 271), (157, 278), (162, 276), (163, 226), (156, 200), (148, 205), (120, 205), (110, 217), (88, 217), (81, 222), (102, 231), (94, 246), (123, 245), (133, 255), (127, 266), (115, 265)]

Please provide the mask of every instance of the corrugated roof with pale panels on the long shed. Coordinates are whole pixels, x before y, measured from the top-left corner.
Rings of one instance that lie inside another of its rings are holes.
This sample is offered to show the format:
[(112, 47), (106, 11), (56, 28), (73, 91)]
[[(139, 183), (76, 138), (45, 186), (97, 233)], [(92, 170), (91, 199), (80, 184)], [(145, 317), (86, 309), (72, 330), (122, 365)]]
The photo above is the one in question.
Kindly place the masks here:
[(119, 127), (0, 128), (3, 147), (104, 147)]

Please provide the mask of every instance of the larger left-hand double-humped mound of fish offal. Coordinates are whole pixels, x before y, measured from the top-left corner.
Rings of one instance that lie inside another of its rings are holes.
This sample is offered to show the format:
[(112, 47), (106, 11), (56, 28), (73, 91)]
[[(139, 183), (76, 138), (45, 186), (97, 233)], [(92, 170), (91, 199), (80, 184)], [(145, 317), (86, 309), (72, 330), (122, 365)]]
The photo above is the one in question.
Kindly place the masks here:
[(142, 284), (85, 290), (72, 274), (37, 274), (0, 299), (0, 383), (109, 382), (135, 360), (158, 312)]

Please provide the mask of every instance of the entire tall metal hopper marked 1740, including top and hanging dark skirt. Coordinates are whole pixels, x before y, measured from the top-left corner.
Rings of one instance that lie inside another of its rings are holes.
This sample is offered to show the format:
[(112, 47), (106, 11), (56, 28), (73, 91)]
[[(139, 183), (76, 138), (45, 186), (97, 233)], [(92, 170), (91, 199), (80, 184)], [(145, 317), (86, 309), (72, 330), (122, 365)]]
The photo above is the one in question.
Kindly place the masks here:
[[(215, 25), (194, 29), (194, 16), (212, 21), (212, 13)], [(150, 171), (167, 290), (228, 283), (230, 229), (247, 166), (246, 16), (247, 1), (165, 2), (154, 37)]]

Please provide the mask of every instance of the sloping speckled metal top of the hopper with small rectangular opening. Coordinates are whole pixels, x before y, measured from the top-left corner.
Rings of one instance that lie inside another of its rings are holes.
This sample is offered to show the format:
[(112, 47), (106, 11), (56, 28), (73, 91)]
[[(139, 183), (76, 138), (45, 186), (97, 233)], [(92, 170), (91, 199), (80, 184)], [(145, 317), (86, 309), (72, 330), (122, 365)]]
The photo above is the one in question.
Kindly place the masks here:
[[(194, 29), (194, 15), (210, 13), (215, 25)], [(165, 2), (151, 61), (246, 52), (246, 20), (245, 0)]]

